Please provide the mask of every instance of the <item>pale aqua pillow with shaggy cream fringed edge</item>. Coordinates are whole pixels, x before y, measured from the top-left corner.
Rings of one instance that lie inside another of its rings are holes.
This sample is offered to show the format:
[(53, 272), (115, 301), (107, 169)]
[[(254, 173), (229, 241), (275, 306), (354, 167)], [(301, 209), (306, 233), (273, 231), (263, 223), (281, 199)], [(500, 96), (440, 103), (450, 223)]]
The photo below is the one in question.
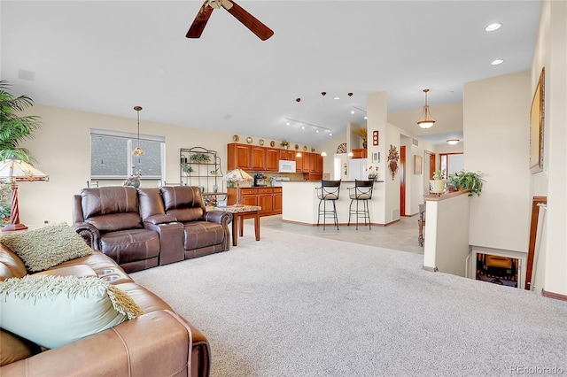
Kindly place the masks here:
[(143, 314), (100, 278), (33, 276), (0, 281), (0, 327), (45, 348), (97, 334)]

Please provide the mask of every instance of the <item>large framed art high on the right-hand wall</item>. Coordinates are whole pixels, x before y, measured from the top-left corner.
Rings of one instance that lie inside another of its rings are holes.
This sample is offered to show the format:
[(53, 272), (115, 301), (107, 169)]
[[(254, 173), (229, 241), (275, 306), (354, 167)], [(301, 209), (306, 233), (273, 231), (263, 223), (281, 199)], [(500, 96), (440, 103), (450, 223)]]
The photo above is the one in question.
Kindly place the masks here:
[(540, 80), (535, 88), (530, 112), (530, 173), (532, 174), (543, 170), (545, 72), (545, 68), (541, 68)]

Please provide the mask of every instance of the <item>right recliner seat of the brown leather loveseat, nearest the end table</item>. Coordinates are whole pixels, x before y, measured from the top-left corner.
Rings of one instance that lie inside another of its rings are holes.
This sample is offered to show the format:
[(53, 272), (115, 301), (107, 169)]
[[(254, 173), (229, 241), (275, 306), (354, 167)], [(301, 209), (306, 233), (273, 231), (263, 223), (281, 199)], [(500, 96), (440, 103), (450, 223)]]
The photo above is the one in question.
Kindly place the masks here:
[[(159, 188), (161, 203), (155, 199), (157, 193), (150, 192), (151, 188), (139, 188), (138, 190), (140, 192), (140, 213), (145, 223), (148, 223), (149, 219), (168, 215), (183, 224), (184, 259), (230, 250), (229, 224), (232, 221), (232, 214), (223, 211), (207, 212), (203, 196), (197, 187), (165, 186)], [(145, 195), (148, 195), (147, 201), (144, 199)], [(151, 227), (151, 225), (146, 226)]]

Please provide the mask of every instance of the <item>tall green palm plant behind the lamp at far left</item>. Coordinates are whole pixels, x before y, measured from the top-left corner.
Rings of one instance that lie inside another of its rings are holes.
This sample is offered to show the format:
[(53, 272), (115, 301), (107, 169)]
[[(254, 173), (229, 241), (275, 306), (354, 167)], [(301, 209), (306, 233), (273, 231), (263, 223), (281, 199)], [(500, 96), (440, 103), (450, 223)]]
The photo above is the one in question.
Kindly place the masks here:
[(19, 143), (34, 137), (41, 127), (39, 117), (20, 117), (17, 113), (33, 106), (34, 101), (28, 96), (13, 96), (7, 91), (9, 87), (7, 81), (0, 81), (0, 160), (18, 158), (33, 163), (35, 158)]

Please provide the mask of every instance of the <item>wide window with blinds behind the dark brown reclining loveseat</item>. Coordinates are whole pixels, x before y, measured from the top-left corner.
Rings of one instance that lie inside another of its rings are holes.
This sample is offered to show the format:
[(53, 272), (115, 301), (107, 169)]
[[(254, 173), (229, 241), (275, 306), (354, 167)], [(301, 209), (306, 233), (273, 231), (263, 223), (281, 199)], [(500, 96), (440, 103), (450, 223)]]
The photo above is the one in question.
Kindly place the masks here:
[(123, 180), (132, 173), (142, 179), (163, 180), (166, 139), (140, 135), (144, 156), (134, 156), (137, 135), (105, 129), (90, 129), (90, 178)]

